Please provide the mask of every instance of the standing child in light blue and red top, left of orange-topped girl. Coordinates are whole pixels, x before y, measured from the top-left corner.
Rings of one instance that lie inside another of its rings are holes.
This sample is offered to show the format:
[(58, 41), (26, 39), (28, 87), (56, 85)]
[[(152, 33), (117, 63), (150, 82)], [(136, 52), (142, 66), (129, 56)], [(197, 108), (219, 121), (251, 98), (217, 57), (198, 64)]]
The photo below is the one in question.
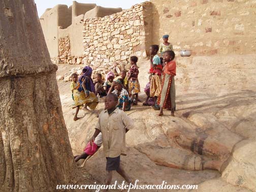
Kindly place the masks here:
[(160, 57), (157, 55), (158, 45), (151, 45), (149, 48), (150, 53), (150, 70), (151, 81), (150, 81), (150, 97), (154, 98), (153, 109), (159, 110), (160, 107), (157, 105), (156, 100), (161, 92), (162, 72), (163, 66), (161, 65)]

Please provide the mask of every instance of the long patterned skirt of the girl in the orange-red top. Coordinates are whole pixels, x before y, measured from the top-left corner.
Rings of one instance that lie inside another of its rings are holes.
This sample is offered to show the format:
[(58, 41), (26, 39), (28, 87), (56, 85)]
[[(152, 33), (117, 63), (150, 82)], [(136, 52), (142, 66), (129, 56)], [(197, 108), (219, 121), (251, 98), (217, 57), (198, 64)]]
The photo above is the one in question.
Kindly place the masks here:
[(175, 81), (174, 76), (165, 74), (162, 82), (161, 94), (157, 98), (157, 104), (163, 109), (175, 109)]

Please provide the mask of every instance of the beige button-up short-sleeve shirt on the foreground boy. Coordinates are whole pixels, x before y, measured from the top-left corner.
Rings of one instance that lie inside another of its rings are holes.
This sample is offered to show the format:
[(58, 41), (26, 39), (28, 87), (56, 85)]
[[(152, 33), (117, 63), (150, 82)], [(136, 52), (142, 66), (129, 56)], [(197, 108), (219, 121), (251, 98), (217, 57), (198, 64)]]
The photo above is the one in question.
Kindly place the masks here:
[(115, 109), (110, 115), (103, 110), (95, 129), (102, 133), (103, 150), (106, 157), (126, 155), (125, 128), (133, 129), (133, 120), (125, 112)]

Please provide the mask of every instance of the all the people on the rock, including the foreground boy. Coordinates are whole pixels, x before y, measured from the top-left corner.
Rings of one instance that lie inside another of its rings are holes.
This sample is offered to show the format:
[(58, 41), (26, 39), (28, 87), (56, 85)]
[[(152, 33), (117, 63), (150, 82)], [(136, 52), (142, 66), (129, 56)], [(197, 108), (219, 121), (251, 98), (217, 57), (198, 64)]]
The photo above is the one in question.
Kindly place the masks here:
[[(164, 43), (161, 46), (161, 57), (157, 55), (158, 45), (150, 46), (150, 69), (149, 82), (144, 91), (147, 95), (143, 105), (151, 105), (153, 109), (160, 110), (159, 116), (163, 115), (163, 109), (171, 110), (174, 116), (175, 110), (175, 82), (176, 62), (175, 54), (168, 43), (168, 36), (164, 36)], [(79, 119), (77, 113), (83, 106), (87, 110), (95, 109), (98, 104), (97, 97), (105, 97), (105, 109), (100, 113), (95, 132), (85, 147), (82, 154), (75, 156), (75, 161), (92, 155), (103, 143), (107, 164), (106, 184), (112, 180), (113, 171), (117, 171), (126, 182), (132, 182), (120, 166), (120, 155), (125, 155), (125, 133), (134, 127), (134, 123), (124, 111), (130, 110), (131, 105), (138, 104), (138, 93), (140, 83), (138, 80), (138, 57), (130, 58), (131, 69), (126, 76), (126, 71), (120, 73), (121, 78), (114, 80), (113, 72), (107, 74), (107, 81), (104, 82), (101, 74), (96, 74), (96, 81), (91, 79), (92, 69), (86, 66), (83, 74), (78, 78), (72, 74), (72, 97), (76, 105), (74, 120)], [(121, 110), (120, 110), (121, 109)]]

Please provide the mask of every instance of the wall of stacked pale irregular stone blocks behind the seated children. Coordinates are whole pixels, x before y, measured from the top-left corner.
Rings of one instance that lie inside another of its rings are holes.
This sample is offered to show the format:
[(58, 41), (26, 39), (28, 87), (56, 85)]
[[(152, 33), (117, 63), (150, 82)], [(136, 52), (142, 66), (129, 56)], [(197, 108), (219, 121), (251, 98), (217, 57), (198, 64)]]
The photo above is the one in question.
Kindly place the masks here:
[(103, 18), (84, 19), (84, 64), (106, 74), (115, 66), (130, 69), (132, 55), (146, 57), (143, 9), (150, 6), (146, 2)]

